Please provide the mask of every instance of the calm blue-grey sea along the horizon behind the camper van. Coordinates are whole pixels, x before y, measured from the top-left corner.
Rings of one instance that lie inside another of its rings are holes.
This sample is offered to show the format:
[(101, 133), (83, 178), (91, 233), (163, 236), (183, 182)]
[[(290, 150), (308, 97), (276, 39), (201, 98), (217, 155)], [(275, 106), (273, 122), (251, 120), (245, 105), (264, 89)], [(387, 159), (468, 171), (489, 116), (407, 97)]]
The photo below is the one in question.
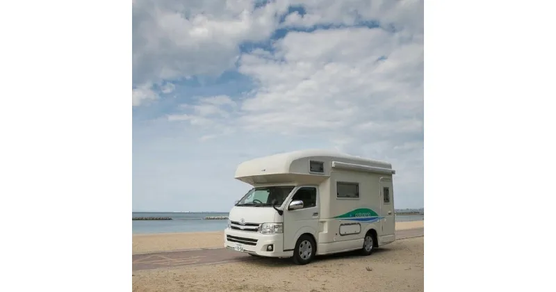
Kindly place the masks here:
[[(174, 232), (213, 232), (226, 229), (228, 220), (204, 220), (206, 217), (228, 216), (216, 212), (133, 212), (136, 217), (170, 217), (172, 220), (133, 220), (133, 234)], [(397, 215), (396, 222), (424, 220), (423, 215)]]

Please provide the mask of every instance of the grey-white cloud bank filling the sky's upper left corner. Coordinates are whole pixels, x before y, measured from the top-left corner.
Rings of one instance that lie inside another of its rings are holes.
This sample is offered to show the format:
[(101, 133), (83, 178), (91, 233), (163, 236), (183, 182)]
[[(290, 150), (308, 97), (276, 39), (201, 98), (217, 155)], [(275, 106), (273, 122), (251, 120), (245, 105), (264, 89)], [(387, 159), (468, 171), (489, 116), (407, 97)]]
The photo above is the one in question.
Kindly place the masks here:
[(254, 9), (254, 1), (133, 2), (133, 85), (199, 74), (217, 76), (232, 69), (238, 45), (265, 40), (278, 25), (287, 3)]

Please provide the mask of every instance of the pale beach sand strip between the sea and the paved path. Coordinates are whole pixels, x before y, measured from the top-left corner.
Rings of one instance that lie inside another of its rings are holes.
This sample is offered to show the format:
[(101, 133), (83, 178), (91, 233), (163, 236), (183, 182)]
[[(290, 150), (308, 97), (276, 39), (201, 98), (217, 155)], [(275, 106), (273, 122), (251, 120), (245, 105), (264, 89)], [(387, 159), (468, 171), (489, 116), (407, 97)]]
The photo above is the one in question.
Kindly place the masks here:
[[(396, 222), (396, 230), (423, 228), (424, 221)], [(197, 248), (222, 248), (223, 232), (188, 232), (167, 234), (134, 234), (133, 254), (190, 250)]]

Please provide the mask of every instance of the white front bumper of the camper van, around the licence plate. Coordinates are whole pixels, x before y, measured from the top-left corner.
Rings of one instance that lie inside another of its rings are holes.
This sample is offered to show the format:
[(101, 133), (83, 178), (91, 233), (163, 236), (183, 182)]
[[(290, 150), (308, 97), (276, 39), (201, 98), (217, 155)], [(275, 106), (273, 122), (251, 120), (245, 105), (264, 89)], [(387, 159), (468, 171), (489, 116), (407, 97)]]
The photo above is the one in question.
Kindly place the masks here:
[[(268, 246), (272, 245), (272, 250)], [(257, 254), (261, 257), (292, 257), (293, 250), (284, 252), (284, 234), (261, 234), (224, 229), (224, 248)]]

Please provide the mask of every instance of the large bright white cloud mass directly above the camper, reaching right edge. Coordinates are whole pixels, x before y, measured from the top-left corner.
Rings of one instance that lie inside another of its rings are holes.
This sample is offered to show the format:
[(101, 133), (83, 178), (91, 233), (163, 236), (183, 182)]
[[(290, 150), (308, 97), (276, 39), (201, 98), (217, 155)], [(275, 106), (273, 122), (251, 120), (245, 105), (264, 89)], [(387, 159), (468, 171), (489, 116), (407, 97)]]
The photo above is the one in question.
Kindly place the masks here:
[(239, 71), (259, 88), (229, 115), (212, 108), (226, 118), (205, 129), (327, 137), (345, 152), (394, 163), (400, 190), (422, 189), (422, 40), (368, 28), (290, 32), (274, 58), (242, 56)]

